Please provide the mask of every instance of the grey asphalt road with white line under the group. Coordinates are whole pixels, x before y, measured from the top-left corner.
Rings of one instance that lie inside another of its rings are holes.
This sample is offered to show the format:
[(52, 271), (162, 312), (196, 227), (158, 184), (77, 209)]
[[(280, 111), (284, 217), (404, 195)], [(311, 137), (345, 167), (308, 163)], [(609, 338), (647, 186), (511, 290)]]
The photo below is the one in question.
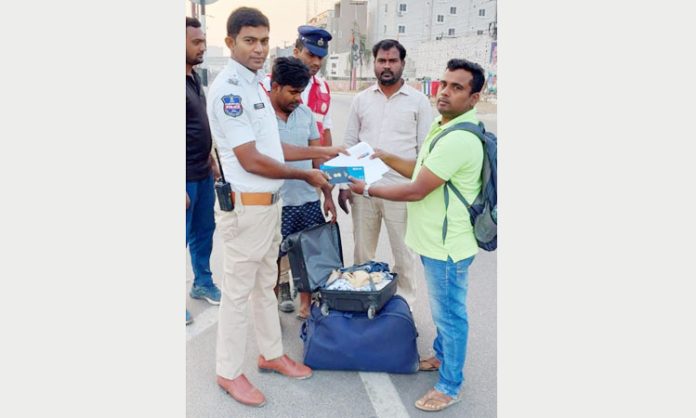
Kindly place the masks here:
[[(332, 117), (334, 143), (342, 142), (346, 118), (352, 99), (350, 94), (334, 93)], [(482, 106), (482, 109), (484, 107)], [(436, 114), (436, 113), (435, 113)], [(496, 132), (496, 114), (479, 113), (488, 130)], [(334, 190), (334, 197), (337, 195)], [(339, 210), (344, 260), (353, 263), (352, 219)], [(376, 259), (393, 265), (389, 240), (382, 228)], [(223, 246), (216, 231), (211, 258), (213, 278), (220, 283), (223, 271)], [(469, 345), (464, 368), (465, 382), (462, 402), (437, 414), (439, 417), (492, 418), (497, 414), (496, 355), (496, 253), (481, 251), (469, 274)], [(193, 276), (187, 256), (186, 291)], [(419, 332), (421, 355), (432, 354), (434, 327), (430, 317), (426, 286), (421, 276), (419, 300), (413, 307)], [(296, 303), (299, 304), (299, 298)], [(277, 374), (259, 374), (256, 370), (258, 348), (249, 326), (245, 374), (266, 395), (262, 408), (241, 405), (225, 394), (215, 383), (215, 339), (218, 308), (188, 297), (186, 306), (194, 316), (187, 327), (186, 340), (186, 413), (189, 418), (221, 417), (425, 417), (431, 416), (415, 408), (414, 402), (437, 381), (437, 373), (413, 375), (315, 371), (312, 378), (294, 381)], [(295, 314), (279, 313), (285, 352), (302, 360), (301, 322)], [(182, 312), (182, 326), (183, 324)]]

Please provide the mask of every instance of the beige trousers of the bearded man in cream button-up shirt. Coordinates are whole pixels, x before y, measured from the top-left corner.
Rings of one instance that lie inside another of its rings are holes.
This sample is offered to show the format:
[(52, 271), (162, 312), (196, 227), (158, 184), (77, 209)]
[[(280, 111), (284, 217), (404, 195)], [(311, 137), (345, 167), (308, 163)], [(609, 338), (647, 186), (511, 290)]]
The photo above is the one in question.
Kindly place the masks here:
[(394, 266), (392, 266), (391, 271), (399, 275), (396, 293), (403, 296), (413, 309), (416, 303), (416, 274), (422, 270), (419, 268), (418, 256), (404, 242), (406, 203), (392, 202), (377, 197), (366, 199), (353, 193), (351, 212), (353, 213), (355, 238), (355, 264), (374, 260), (379, 232), (382, 229), (382, 220), (384, 220), (394, 256)]

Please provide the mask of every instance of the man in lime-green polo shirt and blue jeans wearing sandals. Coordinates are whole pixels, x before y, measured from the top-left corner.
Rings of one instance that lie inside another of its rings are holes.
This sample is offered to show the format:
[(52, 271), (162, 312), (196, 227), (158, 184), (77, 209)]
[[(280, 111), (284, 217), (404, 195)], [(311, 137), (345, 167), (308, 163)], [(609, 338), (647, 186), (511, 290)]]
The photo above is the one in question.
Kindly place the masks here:
[[(353, 192), (365, 197), (406, 201), (408, 222), (406, 245), (421, 257), (428, 284), (428, 297), (437, 328), (433, 342), (435, 356), (421, 360), (421, 370), (439, 370), (439, 380), (416, 402), (425, 411), (440, 411), (461, 400), (464, 382), (469, 322), (466, 312), (468, 269), (478, 252), (466, 207), (454, 199), (445, 209), (443, 185), (450, 180), (472, 202), (481, 190), (483, 146), (476, 135), (453, 131), (442, 137), (430, 152), (440, 132), (459, 122), (478, 123), (474, 106), (484, 85), (481, 66), (463, 59), (451, 59), (440, 81), (437, 110), (441, 116), (432, 124), (418, 158), (405, 160), (382, 150), (381, 158), (411, 183), (370, 187), (352, 179)], [(445, 213), (446, 211), (446, 213)], [(447, 215), (447, 237), (442, 225)]]

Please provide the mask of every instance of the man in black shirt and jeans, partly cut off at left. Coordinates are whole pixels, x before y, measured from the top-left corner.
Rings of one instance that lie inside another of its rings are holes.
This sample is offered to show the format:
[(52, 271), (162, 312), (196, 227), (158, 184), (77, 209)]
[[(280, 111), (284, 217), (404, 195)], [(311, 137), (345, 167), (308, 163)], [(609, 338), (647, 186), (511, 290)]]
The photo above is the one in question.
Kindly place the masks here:
[[(213, 283), (210, 253), (213, 250), (215, 218), (214, 178), (219, 170), (210, 151), (212, 136), (205, 95), (193, 66), (203, 62), (205, 34), (198, 19), (186, 18), (186, 244), (191, 253), (193, 286), (190, 296), (220, 304), (220, 290)], [(191, 322), (188, 310), (186, 323)]]

